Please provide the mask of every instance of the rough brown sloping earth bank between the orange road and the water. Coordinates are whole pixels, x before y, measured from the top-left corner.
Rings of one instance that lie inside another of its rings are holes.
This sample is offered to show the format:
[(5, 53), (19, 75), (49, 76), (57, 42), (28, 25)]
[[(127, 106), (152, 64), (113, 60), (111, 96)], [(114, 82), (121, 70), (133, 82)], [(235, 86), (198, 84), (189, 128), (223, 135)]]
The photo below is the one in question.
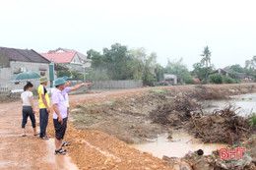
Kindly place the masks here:
[[(193, 133), (198, 138), (202, 138), (203, 133), (195, 130), (195, 124), (191, 121), (191, 112), (195, 119), (194, 123), (200, 126), (209, 121), (209, 117), (204, 118), (205, 120), (201, 119), (203, 114), (209, 113), (203, 113), (198, 101), (224, 99), (229, 95), (255, 90), (255, 85), (155, 88), (138, 96), (108, 99), (99, 103), (76, 104), (72, 109), (71, 121), (80, 130), (98, 130), (127, 143), (145, 142), (156, 138), (159, 134), (171, 134), (171, 131), (182, 128), (192, 128)], [(199, 117), (200, 120), (197, 119)], [(216, 118), (219, 120), (217, 115)], [(241, 126), (241, 128), (245, 127)], [(217, 136), (221, 134), (220, 132)], [(206, 133), (205, 136), (209, 134)], [(205, 142), (226, 141), (206, 139)]]

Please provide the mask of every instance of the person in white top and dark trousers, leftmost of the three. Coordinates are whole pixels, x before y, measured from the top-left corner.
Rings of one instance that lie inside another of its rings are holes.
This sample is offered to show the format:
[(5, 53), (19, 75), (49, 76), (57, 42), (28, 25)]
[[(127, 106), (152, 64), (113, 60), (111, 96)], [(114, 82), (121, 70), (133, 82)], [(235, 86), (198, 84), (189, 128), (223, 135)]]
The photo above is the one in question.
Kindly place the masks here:
[(25, 134), (25, 126), (27, 124), (28, 117), (30, 117), (32, 121), (33, 136), (37, 136), (36, 127), (35, 127), (35, 117), (34, 117), (35, 109), (32, 101), (32, 86), (33, 85), (31, 83), (28, 83), (27, 85), (25, 85), (24, 92), (21, 94), (21, 101), (23, 104), (23, 123), (22, 123), (23, 137), (27, 136)]

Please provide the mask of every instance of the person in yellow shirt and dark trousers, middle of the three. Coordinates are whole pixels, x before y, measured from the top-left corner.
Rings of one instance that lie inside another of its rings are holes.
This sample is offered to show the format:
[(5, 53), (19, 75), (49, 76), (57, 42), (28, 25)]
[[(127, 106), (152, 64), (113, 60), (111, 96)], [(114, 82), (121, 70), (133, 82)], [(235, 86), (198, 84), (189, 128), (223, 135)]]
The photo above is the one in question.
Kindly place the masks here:
[(41, 77), (40, 85), (38, 86), (38, 95), (39, 95), (39, 114), (40, 114), (40, 138), (42, 140), (48, 140), (49, 138), (46, 136), (46, 128), (48, 125), (48, 117), (50, 113), (50, 99), (46, 89), (46, 85), (48, 84), (48, 78)]

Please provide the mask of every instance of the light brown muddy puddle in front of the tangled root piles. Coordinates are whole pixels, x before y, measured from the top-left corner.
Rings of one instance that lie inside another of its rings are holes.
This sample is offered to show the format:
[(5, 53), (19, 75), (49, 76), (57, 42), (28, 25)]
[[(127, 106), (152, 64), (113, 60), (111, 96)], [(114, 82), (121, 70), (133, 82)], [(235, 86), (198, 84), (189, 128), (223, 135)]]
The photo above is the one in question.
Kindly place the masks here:
[(204, 154), (209, 155), (212, 151), (225, 147), (222, 143), (203, 143), (198, 139), (182, 131), (173, 132), (172, 140), (167, 139), (168, 135), (160, 135), (154, 142), (132, 144), (133, 147), (141, 150), (151, 152), (153, 155), (162, 158), (163, 155), (170, 157), (183, 157), (189, 151), (196, 151), (203, 149)]

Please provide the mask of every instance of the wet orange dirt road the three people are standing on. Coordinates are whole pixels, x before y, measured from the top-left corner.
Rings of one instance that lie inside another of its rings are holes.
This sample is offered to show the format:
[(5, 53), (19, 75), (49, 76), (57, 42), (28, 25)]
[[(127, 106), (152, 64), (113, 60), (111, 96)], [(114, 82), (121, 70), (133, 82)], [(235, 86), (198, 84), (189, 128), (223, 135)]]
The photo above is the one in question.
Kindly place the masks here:
[[(73, 106), (77, 103), (96, 103), (112, 98), (139, 95), (152, 88), (171, 88), (171, 86), (71, 95), (70, 102)], [(0, 104), (0, 169), (170, 169), (152, 154), (143, 153), (101, 132), (78, 131), (71, 123), (68, 125), (66, 137), (66, 140), (72, 143), (68, 147), (69, 153), (65, 156), (55, 156), (52, 119), (49, 118), (47, 130), (48, 135), (52, 137), (51, 140), (41, 141), (38, 137), (33, 137), (30, 120), (27, 124), (29, 136), (24, 138), (21, 137), (21, 110), (20, 102)], [(38, 118), (36, 122), (38, 123)]]

